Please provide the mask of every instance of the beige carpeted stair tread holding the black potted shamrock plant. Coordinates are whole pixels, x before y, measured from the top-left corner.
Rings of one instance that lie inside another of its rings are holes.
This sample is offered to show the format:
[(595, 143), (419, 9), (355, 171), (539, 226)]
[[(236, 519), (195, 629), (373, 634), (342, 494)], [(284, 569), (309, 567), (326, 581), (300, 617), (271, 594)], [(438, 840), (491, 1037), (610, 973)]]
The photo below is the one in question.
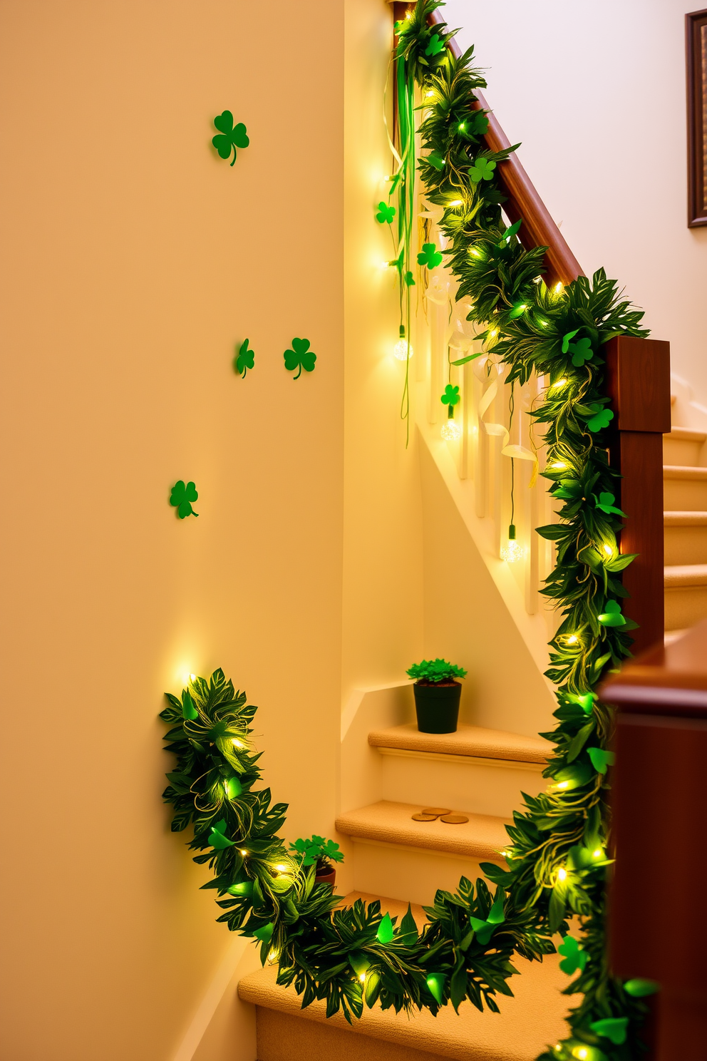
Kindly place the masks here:
[(414, 723), (373, 730), (368, 743), (381, 751), (400, 749), (464, 759), (494, 759), (513, 763), (545, 765), (551, 746), (540, 737), (523, 736), (505, 730), (459, 726), (456, 733), (421, 733)]

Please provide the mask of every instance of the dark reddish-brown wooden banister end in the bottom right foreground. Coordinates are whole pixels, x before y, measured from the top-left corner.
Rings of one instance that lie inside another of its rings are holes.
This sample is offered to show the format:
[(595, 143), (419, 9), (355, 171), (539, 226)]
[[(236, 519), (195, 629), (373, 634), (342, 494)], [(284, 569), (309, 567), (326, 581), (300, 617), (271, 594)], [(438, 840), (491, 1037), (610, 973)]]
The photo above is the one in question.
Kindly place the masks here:
[(707, 1057), (707, 621), (601, 697), (617, 708), (612, 970), (660, 984), (656, 1061)]

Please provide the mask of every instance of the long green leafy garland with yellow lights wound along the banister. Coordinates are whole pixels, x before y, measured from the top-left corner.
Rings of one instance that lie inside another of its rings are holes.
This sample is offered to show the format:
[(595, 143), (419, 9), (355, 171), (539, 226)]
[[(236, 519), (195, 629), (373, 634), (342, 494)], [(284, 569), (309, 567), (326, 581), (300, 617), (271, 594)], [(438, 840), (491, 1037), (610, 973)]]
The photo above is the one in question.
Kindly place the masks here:
[[(195, 862), (214, 872), (205, 887), (220, 897), (218, 920), (261, 942), (263, 961), (278, 962), (278, 981), (294, 984), (303, 1006), (325, 999), (328, 1015), (341, 1009), (349, 1021), (376, 1003), (436, 1013), (467, 998), (479, 1009), (497, 1010), (495, 995), (511, 994), (512, 956), (541, 959), (554, 950), (551, 936), (560, 932), (562, 968), (578, 973), (567, 993), (583, 999), (570, 1011), (569, 1037), (543, 1058), (630, 1061), (642, 1049), (641, 996), (654, 988), (621, 984), (605, 961), (612, 716), (594, 690), (629, 655), (634, 624), (621, 614), (625, 591), (619, 575), (632, 557), (617, 545), (623, 514), (615, 505), (617, 473), (606, 459), (613, 413), (601, 349), (613, 336), (647, 332), (639, 327), (641, 313), (621, 300), (603, 271), (590, 282), (581, 277), (549, 291), (542, 280), (545, 248), (524, 250), (518, 223), (503, 224), (494, 171), (513, 149), (483, 147), (487, 120), (471, 104), (474, 89), (485, 82), (472, 67), (472, 52), (455, 58), (446, 27), (429, 25), (439, 6), (418, 0), (397, 27), (397, 89), (407, 115), (400, 158), (406, 173), (391, 186), (391, 198), (405, 197), (402, 209), (397, 198), (397, 208), (407, 249), (393, 264), (403, 292), (409, 288), (410, 101), (417, 82), (426, 109), (419, 170), (428, 201), (443, 209), (440, 227), (459, 281), (457, 298), (472, 300), (469, 319), (485, 328), (485, 350), (509, 366), (509, 382), (525, 383), (533, 371), (549, 377), (532, 415), (546, 425), (544, 474), (563, 502), (562, 522), (540, 528), (556, 543), (558, 564), (544, 592), (563, 615), (547, 672), (559, 701), (558, 725), (543, 734), (554, 744), (545, 771), (551, 783), (514, 815), (508, 870), (483, 865), (495, 894), (483, 881), (462, 879), (455, 894), (437, 892), (421, 933), (409, 910), (397, 925), (382, 916), (378, 903), (338, 907), (329, 886), (316, 884), (314, 867), (287, 853), (277, 836), (286, 807), (271, 805), (269, 789), (253, 787), (260, 780), (249, 728), (255, 708), (220, 671), (208, 682), (192, 681), (181, 699), (167, 694), (161, 717), (173, 727), (166, 741), (177, 766), (167, 775), (164, 799), (175, 807), (173, 830), (194, 827), (190, 847)], [(379, 214), (382, 222), (393, 216), (390, 208)], [(421, 264), (437, 262), (438, 254), (426, 244)], [(569, 935), (572, 916), (580, 939)]]

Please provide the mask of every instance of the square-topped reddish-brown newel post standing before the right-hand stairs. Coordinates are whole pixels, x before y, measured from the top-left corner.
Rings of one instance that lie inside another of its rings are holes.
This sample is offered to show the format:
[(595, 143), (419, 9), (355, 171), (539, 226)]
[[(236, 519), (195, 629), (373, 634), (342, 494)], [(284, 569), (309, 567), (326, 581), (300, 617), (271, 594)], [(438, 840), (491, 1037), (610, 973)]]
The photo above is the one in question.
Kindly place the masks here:
[(662, 436), (670, 431), (670, 344), (622, 335), (605, 347), (614, 437), (609, 460), (621, 475), (628, 516), (621, 552), (638, 553), (623, 572), (623, 611), (638, 623), (634, 654), (665, 636)]

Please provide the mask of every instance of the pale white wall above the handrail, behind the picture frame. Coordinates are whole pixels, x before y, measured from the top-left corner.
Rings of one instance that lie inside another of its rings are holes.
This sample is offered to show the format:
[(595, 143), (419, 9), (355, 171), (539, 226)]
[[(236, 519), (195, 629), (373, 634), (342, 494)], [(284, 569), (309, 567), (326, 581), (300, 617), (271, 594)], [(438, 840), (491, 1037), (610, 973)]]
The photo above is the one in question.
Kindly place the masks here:
[(487, 99), (588, 274), (604, 265), (707, 403), (707, 228), (688, 229), (691, 0), (448, 0)]

